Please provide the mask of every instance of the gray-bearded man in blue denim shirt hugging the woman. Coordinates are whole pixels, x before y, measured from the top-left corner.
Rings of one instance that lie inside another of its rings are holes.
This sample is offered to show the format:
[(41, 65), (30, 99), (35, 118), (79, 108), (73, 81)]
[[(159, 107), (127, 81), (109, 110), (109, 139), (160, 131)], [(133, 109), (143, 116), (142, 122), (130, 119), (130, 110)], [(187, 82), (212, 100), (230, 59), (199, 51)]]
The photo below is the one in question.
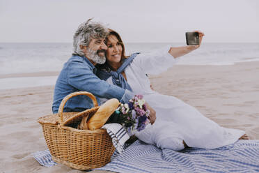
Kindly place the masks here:
[[(91, 19), (90, 19), (91, 20)], [(96, 75), (95, 65), (106, 61), (107, 46), (104, 40), (109, 30), (97, 22), (90, 20), (79, 25), (74, 33), (74, 52), (72, 57), (64, 64), (56, 80), (52, 112), (57, 113), (61, 101), (68, 94), (75, 91), (88, 91), (93, 93), (100, 105), (100, 98), (117, 98), (121, 103), (127, 103), (134, 94), (127, 89), (108, 84)], [(65, 104), (64, 112), (81, 112), (93, 107), (91, 98), (75, 96)], [(155, 110), (150, 109), (150, 122), (155, 121)]]

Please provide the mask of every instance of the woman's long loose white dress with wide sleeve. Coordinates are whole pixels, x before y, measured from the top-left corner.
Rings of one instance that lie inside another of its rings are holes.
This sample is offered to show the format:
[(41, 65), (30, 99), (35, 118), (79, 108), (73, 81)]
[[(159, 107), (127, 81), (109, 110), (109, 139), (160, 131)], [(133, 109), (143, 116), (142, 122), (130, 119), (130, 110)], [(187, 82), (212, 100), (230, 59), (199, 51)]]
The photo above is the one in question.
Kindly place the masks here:
[[(139, 54), (125, 68), (127, 82), (132, 91), (143, 94), (157, 116), (155, 123), (136, 133), (136, 137), (161, 149), (175, 151), (184, 148), (182, 140), (190, 147), (203, 149), (215, 149), (236, 142), (244, 135), (243, 130), (223, 128), (182, 100), (150, 89), (150, 80), (146, 74), (162, 73), (177, 61), (168, 53), (169, 48), (168, 46), (156, 52)], [(112, 84), (111, 77), (107, 82)]]

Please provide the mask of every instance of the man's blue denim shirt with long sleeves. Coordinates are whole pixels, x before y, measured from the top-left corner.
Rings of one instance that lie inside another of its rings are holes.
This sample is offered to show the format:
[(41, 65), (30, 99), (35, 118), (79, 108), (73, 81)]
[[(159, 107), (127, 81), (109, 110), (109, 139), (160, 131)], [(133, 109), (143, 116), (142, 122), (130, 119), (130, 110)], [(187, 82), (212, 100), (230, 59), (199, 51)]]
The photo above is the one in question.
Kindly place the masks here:
[[(117, 98), (121, 103), (127, 103), (134, 96), (128, 90), (100, 80), (95, 73), (95, 66), (86, 57), (73, 55), (64, 64), (56, 80), (52, 112), (57, 113), (63, 98), (76, 91), (93, 93), (99, 105), (100, 98)], [(88, 98), (88, 96), (75, 96), (68, 100), (63, 112), (81, 112), (91, 107), (93, 107), (91, 98)]]

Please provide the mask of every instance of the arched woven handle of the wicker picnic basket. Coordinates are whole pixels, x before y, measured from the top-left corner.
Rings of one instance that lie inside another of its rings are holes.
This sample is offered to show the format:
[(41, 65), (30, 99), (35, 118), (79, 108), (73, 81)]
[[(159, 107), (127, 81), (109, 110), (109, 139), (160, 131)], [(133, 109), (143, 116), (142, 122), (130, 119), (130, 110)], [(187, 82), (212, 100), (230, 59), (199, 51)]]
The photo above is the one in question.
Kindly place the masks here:
[(93, 105), (94, 107), (97, 107), (98, 106), (98, 103), (97, 103), (97, 100), (95, 98), (95, 96), (93, 96), (92, 93), (89, 93), (89, 92), (86, 92), (86, 91), (78, 91), (78, 92), (74, 92), (74, 93), (70, 93), (68, 96), (65, 96), (65, 98), (63, 98), (62, 102), (61, 102), (61, 105), (59, 105), (59, 108), (58, 108), (58, 116), (61, 117), (61, 123), (63, 123), (63, 109), (65, 107), (65, 103), (67, 103), (67, 101), (74, 97), (74, 96), (79, 96), (79, 95), (85, 95), (85, 96), (88, 96), (89, 98), (91, 98), (93, 100)]

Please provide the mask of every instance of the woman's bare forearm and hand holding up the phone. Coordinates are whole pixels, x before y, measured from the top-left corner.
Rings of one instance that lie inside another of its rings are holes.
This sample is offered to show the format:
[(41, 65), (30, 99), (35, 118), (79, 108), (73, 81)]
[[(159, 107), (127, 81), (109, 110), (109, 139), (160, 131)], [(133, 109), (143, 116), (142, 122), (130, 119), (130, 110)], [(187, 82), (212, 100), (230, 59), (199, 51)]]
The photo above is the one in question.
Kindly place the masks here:
[(198, 47), (201, 46), (201, 41), (203, 40), (204, 33), (201, 31), (195, 31), (198, 32), (200, 43), (199, 45), (187, 45), (182, 47), (171, 47), (168, 51), (169, 54), (171, 54), (174, 58), (181, 57), (185, 54), (188, 54), (189, 52), (198, 49)]

